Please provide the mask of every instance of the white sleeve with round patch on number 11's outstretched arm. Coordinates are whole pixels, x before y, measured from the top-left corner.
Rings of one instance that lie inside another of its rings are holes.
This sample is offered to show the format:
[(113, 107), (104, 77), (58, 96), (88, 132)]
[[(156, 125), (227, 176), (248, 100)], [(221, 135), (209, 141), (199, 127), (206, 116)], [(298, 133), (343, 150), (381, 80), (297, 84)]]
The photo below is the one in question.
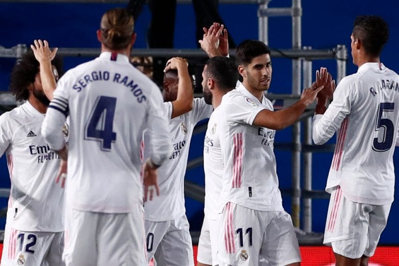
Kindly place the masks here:
[(259, 112), (266, 109), (245, 95), (230, 96), (226, 100), (224, 113), (230, 122), (252, 125)]

